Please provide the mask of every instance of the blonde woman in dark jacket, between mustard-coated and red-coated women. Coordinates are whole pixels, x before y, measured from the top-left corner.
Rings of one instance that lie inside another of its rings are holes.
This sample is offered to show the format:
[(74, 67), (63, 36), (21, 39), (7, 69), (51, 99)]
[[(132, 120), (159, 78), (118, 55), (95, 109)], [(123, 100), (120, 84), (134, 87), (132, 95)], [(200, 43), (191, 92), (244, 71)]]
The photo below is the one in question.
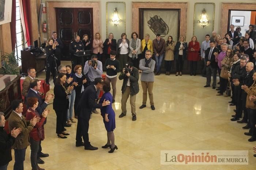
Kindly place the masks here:
[(176, 60), (176, 76), (182, 76), (183, 63), (187, 58), (188, 43), (185, 42), (183, 35), (180, 36), (179, 41), (175, 45), (175, 55)]

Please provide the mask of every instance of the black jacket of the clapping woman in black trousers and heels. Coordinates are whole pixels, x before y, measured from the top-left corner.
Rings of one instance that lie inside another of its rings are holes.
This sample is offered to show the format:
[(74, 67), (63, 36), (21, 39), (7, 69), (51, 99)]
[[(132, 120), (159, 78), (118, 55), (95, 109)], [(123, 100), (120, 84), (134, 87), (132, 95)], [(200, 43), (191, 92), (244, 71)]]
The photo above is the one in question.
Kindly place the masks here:
[(67, 94), (65, 92), (65, 89), (60, 83), (55, 83), (53, 93), (54, 93), (53, 110), (61, 110), (61, 111), (67, 110), (69, 101), (67, 99)]

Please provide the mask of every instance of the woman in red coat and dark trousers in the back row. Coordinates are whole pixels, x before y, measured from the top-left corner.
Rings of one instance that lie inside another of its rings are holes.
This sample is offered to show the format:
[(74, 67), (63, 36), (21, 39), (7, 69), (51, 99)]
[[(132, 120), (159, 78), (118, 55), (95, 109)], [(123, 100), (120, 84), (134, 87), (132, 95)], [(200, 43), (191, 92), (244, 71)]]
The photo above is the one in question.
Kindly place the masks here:
[(200, 60), (198, 51), (200, 50), (200, 44), (197, 42), (196, 36), (193, 36), (188, 43), (188, 61), (190, 67), (190, 75), (196, 75), (197, 62)]

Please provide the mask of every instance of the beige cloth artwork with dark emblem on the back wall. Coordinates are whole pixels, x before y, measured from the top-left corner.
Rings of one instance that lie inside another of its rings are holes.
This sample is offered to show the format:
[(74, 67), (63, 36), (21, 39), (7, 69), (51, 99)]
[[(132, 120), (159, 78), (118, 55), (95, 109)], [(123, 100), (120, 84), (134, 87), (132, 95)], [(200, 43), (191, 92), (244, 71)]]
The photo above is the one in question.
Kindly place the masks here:
[(148, 33), (150, 39), (155, 39), (157, 34), (167, 40), (171, 35), (174, 41), (180, 36), (180, 9), (154, 9), (140, 8), (139, 23), (142, 23), (139, 30), (140, 39)]

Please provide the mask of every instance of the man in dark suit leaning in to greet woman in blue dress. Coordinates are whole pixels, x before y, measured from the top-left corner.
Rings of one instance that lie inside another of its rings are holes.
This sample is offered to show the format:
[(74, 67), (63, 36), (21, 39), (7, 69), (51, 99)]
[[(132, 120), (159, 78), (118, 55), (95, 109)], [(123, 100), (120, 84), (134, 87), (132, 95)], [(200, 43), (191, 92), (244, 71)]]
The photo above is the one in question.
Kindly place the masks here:
[[(95, 78), (94, 84), (86, 87), (84, 90), (80, 102), (78, 104), (77, 112), (78, 114), (78, 124), (76, 128), (76, 147), (84, 146), (85, 150), (97, 150), (98, 147), (91, 146), (89, 142), (89, 120), (91, 116), (91, 111), (93, 108), (102, 108), (110, 104), (110, 101), (103, 101), (102, 104), (95, 102), (97, 99), (97, 90), (102, 90), (102, 78)], [(83, 141), (82, 142), (82, 137)]]

